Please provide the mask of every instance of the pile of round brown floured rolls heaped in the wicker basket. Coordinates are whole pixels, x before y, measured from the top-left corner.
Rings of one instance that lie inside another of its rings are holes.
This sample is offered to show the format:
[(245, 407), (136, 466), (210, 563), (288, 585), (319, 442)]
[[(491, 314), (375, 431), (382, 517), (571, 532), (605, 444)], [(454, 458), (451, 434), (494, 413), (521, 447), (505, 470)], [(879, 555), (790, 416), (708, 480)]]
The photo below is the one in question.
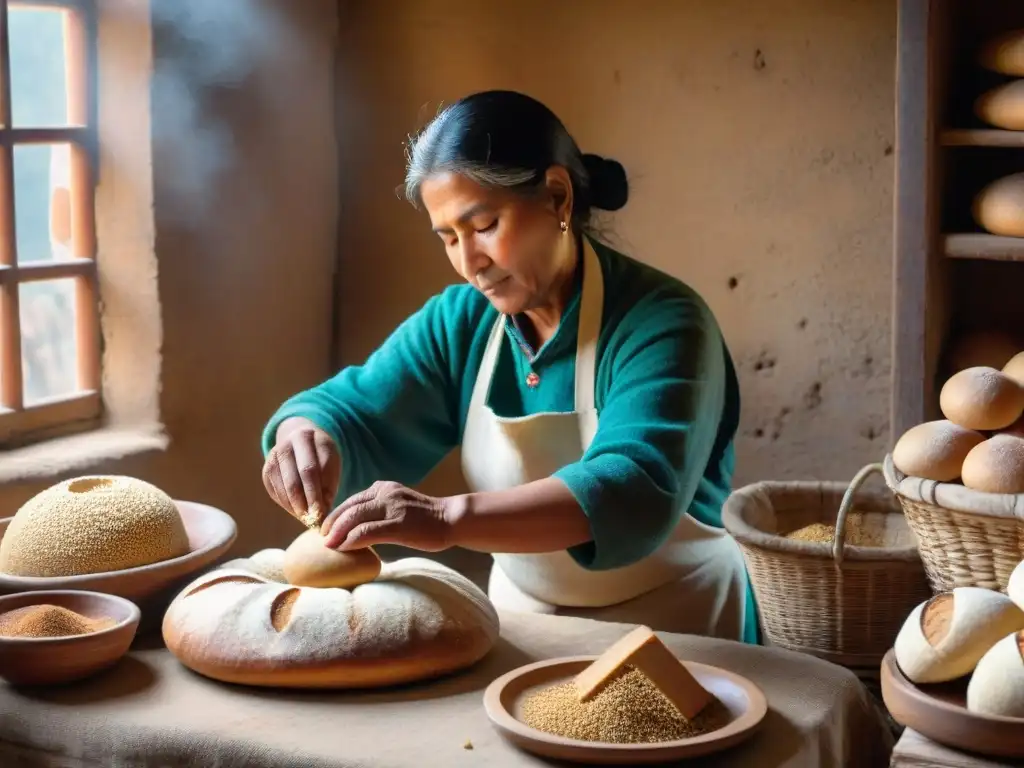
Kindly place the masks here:
[(939, 408), (945, 419), (919, 424), (896, 442), (896, 468), (974, 490), (1024, 494), (1024, 351), (1001, 370), (975, 366), (954, 374)]

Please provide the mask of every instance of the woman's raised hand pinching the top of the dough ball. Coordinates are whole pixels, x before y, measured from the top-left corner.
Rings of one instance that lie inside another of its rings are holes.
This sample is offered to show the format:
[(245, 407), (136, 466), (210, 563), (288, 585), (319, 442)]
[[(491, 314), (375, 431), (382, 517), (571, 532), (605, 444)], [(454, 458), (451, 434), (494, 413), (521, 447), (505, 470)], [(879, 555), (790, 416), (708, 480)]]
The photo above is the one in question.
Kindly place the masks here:
[(341, 482), (334, 439), (308, 419), (287, 419), (263, 463), (263, 485), (285, 511), (309, 526), (331, 509)]

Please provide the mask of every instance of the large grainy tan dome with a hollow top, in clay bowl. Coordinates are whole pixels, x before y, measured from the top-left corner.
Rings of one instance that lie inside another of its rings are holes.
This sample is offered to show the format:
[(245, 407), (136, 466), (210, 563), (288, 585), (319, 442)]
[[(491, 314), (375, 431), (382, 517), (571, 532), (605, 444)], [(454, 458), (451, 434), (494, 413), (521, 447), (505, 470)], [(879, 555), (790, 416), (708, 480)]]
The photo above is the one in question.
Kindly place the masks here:
[(134, 477), (77, 477), (37, 494), (0, 540), (0, 572), (71, 577), (152, 565), (187, 554), (171, 498)]

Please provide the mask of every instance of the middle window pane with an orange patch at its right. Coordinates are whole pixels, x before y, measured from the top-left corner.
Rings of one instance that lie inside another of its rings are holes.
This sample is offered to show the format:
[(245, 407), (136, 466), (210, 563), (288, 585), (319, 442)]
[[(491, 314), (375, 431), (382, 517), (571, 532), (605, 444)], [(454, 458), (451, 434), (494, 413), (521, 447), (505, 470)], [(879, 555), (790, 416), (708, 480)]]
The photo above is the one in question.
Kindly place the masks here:
[(14, 147), (14, 226), (17, 262), (71, 258), (71, 147)]

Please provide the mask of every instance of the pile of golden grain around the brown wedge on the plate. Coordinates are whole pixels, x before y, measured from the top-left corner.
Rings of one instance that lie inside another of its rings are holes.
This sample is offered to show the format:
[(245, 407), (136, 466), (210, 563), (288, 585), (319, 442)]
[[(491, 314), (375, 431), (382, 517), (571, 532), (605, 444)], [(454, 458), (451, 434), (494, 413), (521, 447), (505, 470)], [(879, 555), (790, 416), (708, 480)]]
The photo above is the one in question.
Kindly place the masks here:
[(540, 690), (523, 702), (521, 717), (526, 725), (545, 733), (618, 744), (690, 738), (729, 722), (729, 712), (718, 699), (712, 699), (699, 715), (687, 720), (642, 672), (633, 668), (586, 702), (580, 701), (572, 681)]

